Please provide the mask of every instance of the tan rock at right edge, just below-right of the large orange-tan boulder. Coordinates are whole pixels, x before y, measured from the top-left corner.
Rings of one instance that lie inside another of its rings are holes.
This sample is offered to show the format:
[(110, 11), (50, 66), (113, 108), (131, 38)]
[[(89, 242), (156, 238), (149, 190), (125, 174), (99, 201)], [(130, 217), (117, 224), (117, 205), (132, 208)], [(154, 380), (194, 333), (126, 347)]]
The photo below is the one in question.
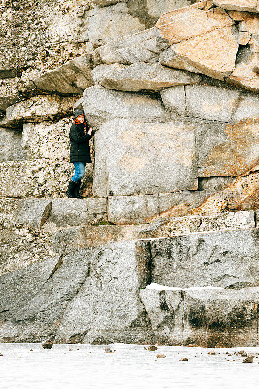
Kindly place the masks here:
[(226, 82), (253, 92), (259, 91), (259, 74), (254, 70), (259, 61), (257, 44), (255, 39), (250, 39), (249, 46), (239, 48), (235, 70), (225, 79)]

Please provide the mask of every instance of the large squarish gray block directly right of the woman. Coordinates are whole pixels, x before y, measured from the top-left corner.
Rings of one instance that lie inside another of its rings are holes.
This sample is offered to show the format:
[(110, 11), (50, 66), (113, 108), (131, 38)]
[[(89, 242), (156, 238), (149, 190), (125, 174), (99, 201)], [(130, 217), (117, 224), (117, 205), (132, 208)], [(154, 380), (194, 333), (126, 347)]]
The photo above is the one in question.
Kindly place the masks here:
[(94, 195), (197, 189), (194, 129), (185, 122), (143, 123), (136, 119), (103, 124), (95, 134)]

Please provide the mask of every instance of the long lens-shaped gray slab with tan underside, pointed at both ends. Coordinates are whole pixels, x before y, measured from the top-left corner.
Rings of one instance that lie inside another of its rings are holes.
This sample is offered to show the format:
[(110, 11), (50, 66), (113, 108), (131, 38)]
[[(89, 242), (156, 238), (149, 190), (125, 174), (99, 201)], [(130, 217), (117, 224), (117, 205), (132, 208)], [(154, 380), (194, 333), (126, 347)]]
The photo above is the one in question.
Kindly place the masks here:
[(198, 84), (200, 81), (201, 77), (197, 74), (137, 62), (108, 74), (101, 85), (108, 89), (138, 92), (142, 89), (160, 90), (175, 85)]

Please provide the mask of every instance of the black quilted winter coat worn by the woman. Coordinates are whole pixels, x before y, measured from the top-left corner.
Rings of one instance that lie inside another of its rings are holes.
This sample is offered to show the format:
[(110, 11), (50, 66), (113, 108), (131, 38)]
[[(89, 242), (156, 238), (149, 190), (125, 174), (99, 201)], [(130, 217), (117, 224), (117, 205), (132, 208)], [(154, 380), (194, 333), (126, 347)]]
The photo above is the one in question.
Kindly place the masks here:
[[(86, 131), (89, 130), (88, 124), (86, 124)], [(70, 128), (69, 138), (71, 141), (70, 146), (70, 162), (84, 162), (90, 163), (91, 154), (89, 139), (93, 135), (85, 134), (84, 124), (72, 124)]]

